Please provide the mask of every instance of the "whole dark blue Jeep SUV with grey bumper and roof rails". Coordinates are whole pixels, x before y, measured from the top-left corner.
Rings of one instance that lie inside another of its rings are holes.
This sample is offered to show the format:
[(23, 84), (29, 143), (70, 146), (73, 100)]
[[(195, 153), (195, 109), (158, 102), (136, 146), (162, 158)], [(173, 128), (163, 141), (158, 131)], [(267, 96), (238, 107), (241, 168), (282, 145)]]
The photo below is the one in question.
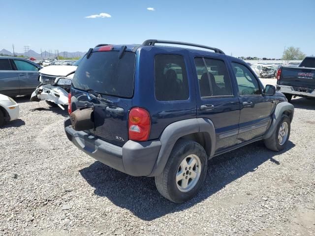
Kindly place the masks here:
[(155, 177), (175, 203), (198, 192), (214, 156), (258, 140), (284, 149), (294, 113), (243, 60), (162, 40), (90, 49), (68, 110), (64, 129), (75, 146), (128, 175)]

